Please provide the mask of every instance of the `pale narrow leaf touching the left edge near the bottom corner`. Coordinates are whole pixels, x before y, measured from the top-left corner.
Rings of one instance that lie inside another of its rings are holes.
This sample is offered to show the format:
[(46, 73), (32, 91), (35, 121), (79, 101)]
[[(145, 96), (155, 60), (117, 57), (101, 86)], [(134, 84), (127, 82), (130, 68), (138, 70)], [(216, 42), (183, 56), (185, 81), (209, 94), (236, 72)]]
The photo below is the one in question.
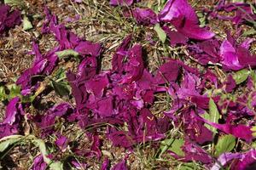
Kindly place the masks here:
[(8, 137), (4, 137), (0, 140), (0, 152), (2, 153), (4, 150), (7, 150), (9, 146), (18, 143), (23, 136), (21, 135), (10, 135)]

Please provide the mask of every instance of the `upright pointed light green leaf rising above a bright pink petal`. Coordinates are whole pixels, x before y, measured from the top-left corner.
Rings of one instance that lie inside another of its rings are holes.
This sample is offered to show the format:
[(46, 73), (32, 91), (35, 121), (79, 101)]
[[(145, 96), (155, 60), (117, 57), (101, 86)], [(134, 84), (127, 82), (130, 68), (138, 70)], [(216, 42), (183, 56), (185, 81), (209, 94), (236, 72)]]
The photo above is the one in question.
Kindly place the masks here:
[[(206, 115), (206, 114), (204, 114), (204, 115)], [(208, 114), (208, 116), (205, 116), (205, 118), (210, 122), (216, 122), (216, 123), (218, 123), (218, 119), (220, 118), (220, 115), (218, 112), (218, 107), (214, 103), (212, 98), (209, 101), (209, 114)], [(206, 126), (206, 127), (208, 127), (208, 126)], [(212, 131), (212, 133), (214, 133), (214, 134), (217, 133), (217, 129), (215, 127), (210, 126), (208, 128)]]

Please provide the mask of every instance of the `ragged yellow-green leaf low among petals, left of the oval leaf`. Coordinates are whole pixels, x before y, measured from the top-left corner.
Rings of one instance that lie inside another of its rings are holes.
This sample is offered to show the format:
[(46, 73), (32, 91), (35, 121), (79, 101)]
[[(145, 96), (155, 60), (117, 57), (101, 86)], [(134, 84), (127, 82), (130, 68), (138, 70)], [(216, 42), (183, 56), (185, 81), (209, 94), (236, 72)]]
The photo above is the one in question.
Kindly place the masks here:
[(161, 149), (160, 155), (162, 155), (166, 150), (172, 150), (178, 156), (184, 156), (184, 152), (181, 149), (181, 146), (183, 146), (183, 144), (184, 144), (183, 139), (165, 139), (160, 143), (160, 149)]

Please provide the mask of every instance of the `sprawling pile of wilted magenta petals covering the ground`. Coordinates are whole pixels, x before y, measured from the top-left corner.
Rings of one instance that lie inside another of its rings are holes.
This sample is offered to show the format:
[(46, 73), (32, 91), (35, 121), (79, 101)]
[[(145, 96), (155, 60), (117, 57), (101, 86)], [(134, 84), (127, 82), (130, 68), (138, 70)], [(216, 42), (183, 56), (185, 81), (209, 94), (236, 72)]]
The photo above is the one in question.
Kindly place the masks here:
[[(171, 47), (168, 48), (182, 46), (186, 49), (184, 56), (160, 56), (158, 68), (150, 71), (144, 45), (133, 43), (136, 36), (130, 34), (116, 48), (112, 68), (102, 70), (103, 44), (77, 36), (45, 8), (42, 34), (52, 34), (58, 44), (42, 54), (38, 43), (32, 43), (31, 54), (35, 59), (16, 81), (21, 89), (20, 96), (9, 99), (5, 117), (0, 122), (0, 139), (24, 134), (22, 126), (29, 122), (38, 128), (38, 138), (54, 136), (52, 145), (60, 155), (69, 150), (73, 155), (102, 160), (102, 147), (107, 140), (115, 147), (132, 152), (139, 144), (152, 144), (153, 149), (158, 150), (160, 144), (179, 139), (181, 144), (174, 149), (172, 144), (176, 142), (166, 145), (164, 151), (160, 148), (160, 156), (165, 153), (178, 161), (198, 161), (212, 170), (252, 166), (256, 161), (255, 150), (240, 148), (239, 144), (251, 144), (256, 137), (256, 73), (253, 71), (256, 55), (251, 50), (254, 38), (241, 40), (241, 31), (232, 35), (226, 31), (224, 38), (218, 37), (208, 27), (200, 26), (195, 9), (187, 0), (167, 1), (159, 14), (151, 8), (132, 8), (136, 2), (139, 1), (111, 0), (110, 4), (131, 8), (130, 16), (137, 25), (160, 26), (169, 37)], [(236, 15), (231, 18), (218, 15), (222, 10), (235, 11)], [(231, 19), (236, 28), (247, 20), (255, 20), (252, 7), (247, 3), (220, 1), (212, 11), (206, 11), (213, 18)], [(10, 12), (9, 6), (0, 6), (0, 16), (0, 34), (20, 23), (20, 13)], [(69, 102), (50, 105), (34, 113), (31, 108), (47, 94), (45, 87), (42, 90), (43, 82), (48, 77), (52, 80), (60, 63), (67, 63), (67, 59), (58, 56), (65, 50), (78, 55), (76, 68), (68, 68), (63, 74), (71, 89), (71, 94), (67, 95)], [(153, 109), (159, 95), (166, 97), (167, 109), (155, 114)], [(37, 99), (27, 101), (30, 96)], [(73, 144), (74, 139), (63, 134), (58, 126), (61, 122), (78, 125), (89, 147)], [(175, 130), (181, 133), (172, 135)], [(221, 139), (227, 136), (233, 139), (231, 149), (230, 145), (224, 149), (219, 146)], [(241, 152), (234, 149), (235, 144)], [(117, 164), (112, 164), (111, 169), (128, 169), (130, 152)], [(59, 159), (53, 151), (47, 157), (52, 161)], [(76, 156), (71, 156), (71, 166), (88, 167), (87, 163), (73, 158)], [(44, 161), (42, 154), (36, 156), (31, 168), (46, 169), (48, 165)], [(108, 157), (102, 162), (102, 170), (111, 167)]]

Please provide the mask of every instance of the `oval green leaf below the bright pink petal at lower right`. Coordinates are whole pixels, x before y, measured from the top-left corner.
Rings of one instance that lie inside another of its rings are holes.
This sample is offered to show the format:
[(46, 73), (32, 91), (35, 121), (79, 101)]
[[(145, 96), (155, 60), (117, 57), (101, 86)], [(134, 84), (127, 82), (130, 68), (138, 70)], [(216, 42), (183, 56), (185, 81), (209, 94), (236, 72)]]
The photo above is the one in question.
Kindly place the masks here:
[(226, 134), (218, 139), (218, 143), (215, 146), (215, 156), (219, 156), (224, 152), (228, 152), (234, 149), (236, 145), (236, 138), (231, 134)]

